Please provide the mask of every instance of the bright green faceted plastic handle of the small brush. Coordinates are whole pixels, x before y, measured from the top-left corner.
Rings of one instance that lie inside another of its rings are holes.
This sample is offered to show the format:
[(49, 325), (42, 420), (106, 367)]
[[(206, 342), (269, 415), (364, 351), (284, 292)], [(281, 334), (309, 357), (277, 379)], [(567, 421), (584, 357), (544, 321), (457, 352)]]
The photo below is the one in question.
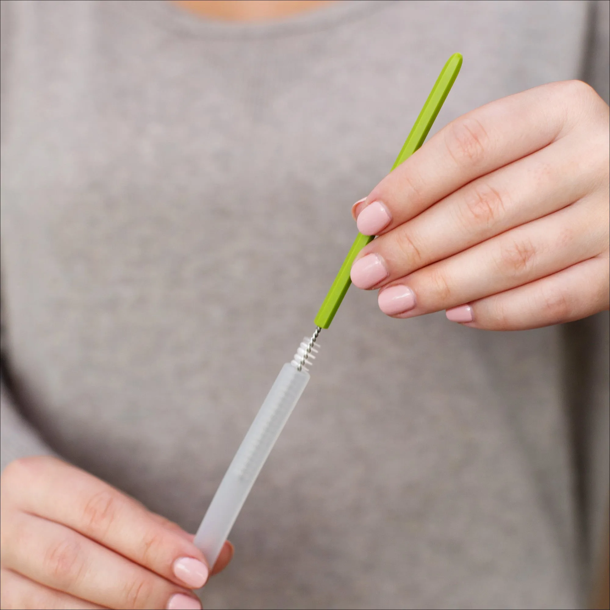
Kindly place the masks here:
[[(459, 53), (454, 53), (445, 63), (445, 67), (436, 79), (432, 91), (426, 103), (423, 105), (422, 112), (419, 113), (417, 121), (409, 137), (404, 143), (403, 149), (400, 151), (397, 160), (392, 165), (392, 170), (398, 167), (404, 160), (408, 159), (420, 146), (422, 146), (426, 135), (434, 123), (439, 110), (443, 106), (443, 102), (447, 98), (455, 79), (458, 77), (459, 69), (462, 67), (462, 56)], [(331, 289), (328, 291), (324, 302), (322, 303), (318, 314), (315, 317), (315, 325), (320, 328), (328, 328), (331, 325), (332, 318), (335, 317), (337, 309), (343, 301), (343, 297), (351, 284), (350, 271), (354, 259), (357, 254), (364, 248), (367, 243), (373, 240), (373, 235), (362, 235), (359, 233), (352, 244), (348, 255), (343, 261), (343, 265), (337, 273), (335, 281), (332, 282)]]

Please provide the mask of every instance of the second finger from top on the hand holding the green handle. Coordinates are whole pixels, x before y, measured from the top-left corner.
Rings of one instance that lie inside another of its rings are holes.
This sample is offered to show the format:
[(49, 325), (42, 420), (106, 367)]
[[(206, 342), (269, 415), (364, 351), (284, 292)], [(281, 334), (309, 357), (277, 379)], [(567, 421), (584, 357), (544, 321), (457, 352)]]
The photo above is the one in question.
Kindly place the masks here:
[(465, 185), (378, 237), (354, 262), (354, 285), (382, 287), (583, 197), (594, 183), (597, 164), (570, 140), (562, 138)]

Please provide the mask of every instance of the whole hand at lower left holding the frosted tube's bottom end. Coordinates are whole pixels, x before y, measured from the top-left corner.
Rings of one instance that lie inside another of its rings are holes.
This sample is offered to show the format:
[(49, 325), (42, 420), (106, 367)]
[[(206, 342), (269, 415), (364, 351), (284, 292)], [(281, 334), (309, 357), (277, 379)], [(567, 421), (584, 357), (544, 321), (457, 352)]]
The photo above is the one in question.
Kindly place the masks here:
[[(201, 608), (209, 574), (188, 534), (56, 458), (24, 458), (0, 480), (0, 606)], [(213, 573), (231, 561), (224, 545)]]

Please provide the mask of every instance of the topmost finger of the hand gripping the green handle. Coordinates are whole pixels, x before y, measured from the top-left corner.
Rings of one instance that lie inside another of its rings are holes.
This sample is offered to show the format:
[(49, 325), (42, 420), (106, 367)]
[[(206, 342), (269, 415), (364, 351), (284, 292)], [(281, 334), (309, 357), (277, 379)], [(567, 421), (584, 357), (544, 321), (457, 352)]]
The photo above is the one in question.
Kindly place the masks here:
[(475, 178), (558, 140), (571, 127), (569, 107), (591, 91), (580, 81), (542, 85), (452, 121), (354, 207), (358, 230), (392, 231)]

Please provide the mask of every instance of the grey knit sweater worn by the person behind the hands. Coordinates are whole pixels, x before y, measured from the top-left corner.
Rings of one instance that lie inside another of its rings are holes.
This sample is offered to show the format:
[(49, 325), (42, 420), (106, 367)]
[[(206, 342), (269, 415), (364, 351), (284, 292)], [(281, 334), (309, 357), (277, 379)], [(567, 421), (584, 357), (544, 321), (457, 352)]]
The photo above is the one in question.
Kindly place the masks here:
[[(435, 131), (549, 81), (608, 99), (608, 2), (1, 21), (2, 465), (54, 452), (191, 530), (447, 57)], [(607, 314), (486, 332), (351, 289), (320, 343), (207, 608), (583, 605)]]

